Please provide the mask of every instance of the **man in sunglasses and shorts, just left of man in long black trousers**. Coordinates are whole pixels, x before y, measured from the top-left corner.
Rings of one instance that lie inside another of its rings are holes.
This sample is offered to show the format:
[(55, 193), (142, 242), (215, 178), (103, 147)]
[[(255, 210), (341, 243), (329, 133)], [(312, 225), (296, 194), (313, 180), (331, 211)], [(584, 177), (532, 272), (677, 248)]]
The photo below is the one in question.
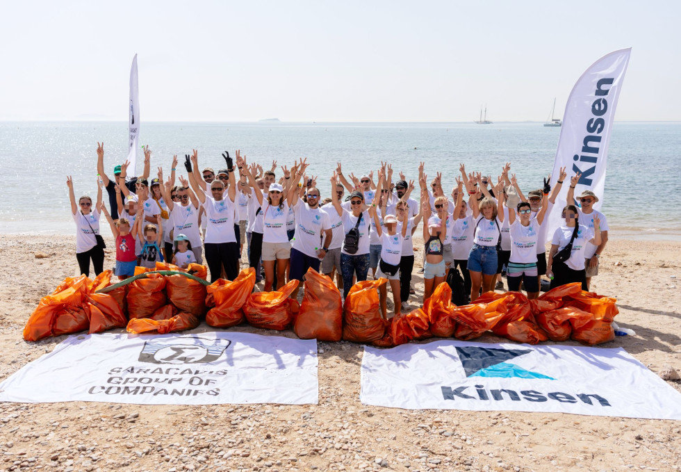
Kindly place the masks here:
[[(161, 168), (158, 168), (158, 179), (163, 182), (163, 169)], [(172, 229), (169, 232), (173, 235), (173, 241), (174, 236), (184, 234), (189, 239), (197, 263), (203, 263), (203, 247), (199, 227), (199, 199), (189, 188), (185, 179), (181, 179), (181, 186), (172, 186), (172, 180), (169, 178), (161, 187), (161, 191), (168, 210), (170, 210), (169, 221)], [(167, 261), (172, 261), (173, 252), (174, 249), (171, 246), (170, 250), (167, 250), (167, 253), (170, 254), (170, 259), (166, 259)]]

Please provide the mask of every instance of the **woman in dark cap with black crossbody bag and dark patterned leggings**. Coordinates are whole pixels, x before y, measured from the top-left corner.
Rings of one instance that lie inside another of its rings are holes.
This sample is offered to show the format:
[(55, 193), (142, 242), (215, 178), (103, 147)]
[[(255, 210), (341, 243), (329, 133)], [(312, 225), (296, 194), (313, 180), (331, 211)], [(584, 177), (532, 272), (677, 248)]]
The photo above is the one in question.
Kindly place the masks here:
[[(338, 174), (334, 172), (331, 177), (331, 186), (336, 185)], [(350, 205), (348, 211), (341, 206), (338, 193), (331, 193), (331, 202), (336, 213), (343, 220), (343, 245), (341, 246), (341, 275), (343, 277), (343, 300), (347, 298), (352, 286), (352, 277), (356, 275), (357, 282), (366, 280), (369, 272), (369, 213), (363, 210), (364, 194), (359, 190), (350, 193)], [(357, 247), (354, 253), (347, 252), (347, 234), (356, 228), (358, 233)]]

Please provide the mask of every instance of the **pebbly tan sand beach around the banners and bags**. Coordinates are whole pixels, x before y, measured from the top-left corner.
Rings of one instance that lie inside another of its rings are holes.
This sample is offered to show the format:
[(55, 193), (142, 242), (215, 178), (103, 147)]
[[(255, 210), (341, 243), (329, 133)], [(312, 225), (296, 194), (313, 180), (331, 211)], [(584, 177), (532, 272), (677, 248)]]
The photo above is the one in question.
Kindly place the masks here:
[[(106, 237), (105, 237), (106, 238)], [(113, 247), (110, 236), (108, 248)], [(416, 241), (418, 247), (420, 241)], [(42, 252), (48, 257), (38, 259)], [(43, 295), (77, 271), (74, 236), (0, 235), (0, 379), (65, 336), (27, 343)], [(105, 268), (114, 264), (108, 250)], [(418, 263), (416, 267), (418, 267)], [(681, 371), (681, 243), (614, 239), (592, 290), (618, 299), (623, 347)], [(414, 274), (420, 304), (422, 279)], [(212, 329), (204, 323), (196, 330)], [(268, 334), (246, 325), (233, 328)], [(271, 332), (271, 334), (275, 334)], [(276, 333), (295, 337), (292, 331)], [(492, 334), (480, 341), (502, 342)], [(427, 342), (427, 341), (425, 341)], [(568, 344), (577, 344), (568, 341)], [(0, 404), (0, 470), (679, 470), (681, 422), (524, 412), (407, 411), (359, 401), (359, 344), (318, 343), (318, 405)], [(681, 391), (681, 383), (668, 382)]]

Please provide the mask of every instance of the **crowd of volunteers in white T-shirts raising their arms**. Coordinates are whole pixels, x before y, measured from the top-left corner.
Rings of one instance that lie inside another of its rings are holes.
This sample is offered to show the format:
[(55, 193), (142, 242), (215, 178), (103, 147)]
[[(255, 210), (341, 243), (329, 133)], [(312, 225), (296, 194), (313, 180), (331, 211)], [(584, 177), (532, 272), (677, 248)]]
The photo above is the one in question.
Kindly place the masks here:
[[(256, 282), (264, 278), (263, 291), (276, 290), (288, 280), (303, 281), (313, 268), (335, 277), (345, 299), (371, 269), (372, 277), (388, 279), (394, 314), (400, 314), (414, 293), (412, 237), (421, 221), (424, 245), (416, 250), (423, 254), (418, 270), (425, 284), (423, 300), (450, 270), (461, 270), (470, 302), (480, 293), (503, 288), (504, 271), (508, 290), (524, 288), (528, 298), (539, 295), (542, 275), (550, 278), (551, 288), (581, 282), (588, 290), (607, 243), (605, 215), (593, 209), (598, 197), (584, 190), (575, 200), (581, 177), (576, 174), (568, 181), (563, 222), (551, 236), (547, 257), (548, 214), (567, 178), (564, 168), (553, 188), (549, 176), (526, 198), (509, 163), (495, 185), (491, 176), (467, 173), (460, 165), (450, 195), (443, 190), (442, 173), (429, 181), (420, 163), (417, 201), (411, 197), (414, 180), (407, 182), (400, 172), (393, 182), (388, 163), (381, 163), (376, 179), (373, 171), (359, 178), (346, 176), (338, 163), (330, 177), (331, 195), (322, 199), (317, 177), (306, 173), (306, 159), (290, 168), (281, 166), (277, 179), (276, 161), (263, 170), (247, 163), (239, 151), (234, 158), (222, 154), (225, 167), (217, 173), (210, 167), (199, 171), (194, 150), (183, 162), (186, 179), (179, 176), (176, 185), (177, 156), (167, 179), (158, 167), (149, 181), (151, 151), (145, 148), (144, 153), (142, 176), (127, 177), (124, 163), (115, 166), (110, 179), (104, 172), (104, 143), (97, 143), (95, 204), (88, 196), (76, 203), (73, 181), (67, 178), (81, 273), (90, 275), (90, 261), (96, 273), (104, 268), (104, 241), (99, 236), (103, 213), (115, 237), (115, 275), (120, 279), (133, 275), (135, 266), (153, 268), (156, 261), (187, 268), (205, 260), (211, 282), (232, 280), (245, 262), (245, 252)], [(103, 190), (110, 211), (102, 201)], [(385, 284), (379, 295), (387, 316)]]

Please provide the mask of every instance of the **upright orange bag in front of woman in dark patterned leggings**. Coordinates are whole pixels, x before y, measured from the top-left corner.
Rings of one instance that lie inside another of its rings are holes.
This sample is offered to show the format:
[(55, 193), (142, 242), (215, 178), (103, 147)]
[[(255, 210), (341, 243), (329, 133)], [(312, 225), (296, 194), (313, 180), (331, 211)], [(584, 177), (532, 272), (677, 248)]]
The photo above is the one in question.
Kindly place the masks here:
[[(365, 280), (354, 284), (345, 298), (343, 339), (370, 343), (386, 334), (386, 320), (381, 317), (377, 288), (388, 279)], [(394, 341), (394, 340), (393, 340)]]

